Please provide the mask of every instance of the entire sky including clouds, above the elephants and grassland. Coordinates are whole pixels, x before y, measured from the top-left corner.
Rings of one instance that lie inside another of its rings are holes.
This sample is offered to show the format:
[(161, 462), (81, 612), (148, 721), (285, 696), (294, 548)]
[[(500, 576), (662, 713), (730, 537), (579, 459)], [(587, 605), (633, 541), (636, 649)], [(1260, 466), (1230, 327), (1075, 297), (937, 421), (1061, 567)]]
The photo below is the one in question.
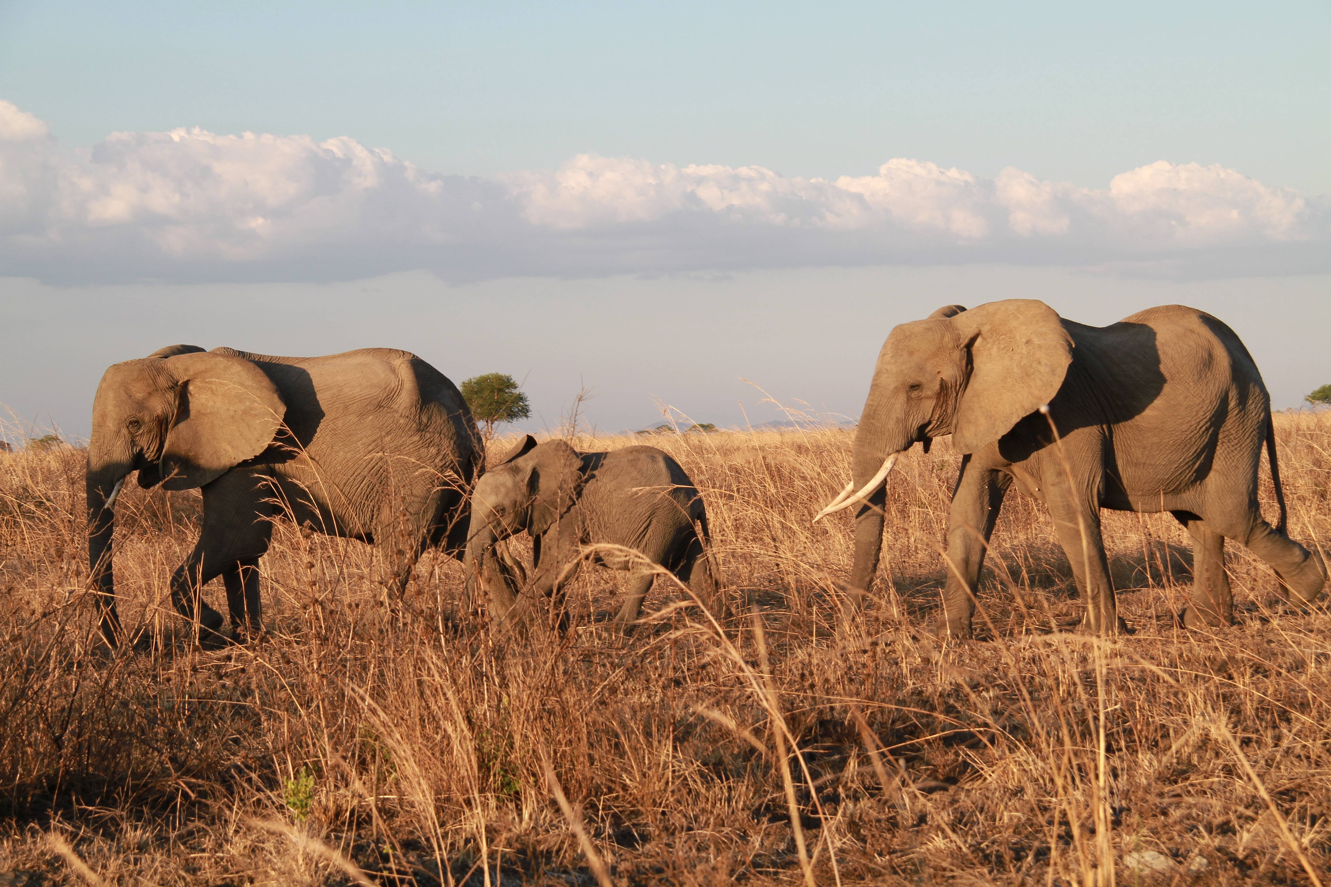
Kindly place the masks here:
[(1213, 310), (1292, 406), (1327, 45), (1322, 1), (0, 0), (0, 403), (87, 434), (189, 340), (410, 347), (547, 420), (580, 379), (607, 428), (775, 418), (740, 376), (853, 415), (892, 324), (1034, 295)]

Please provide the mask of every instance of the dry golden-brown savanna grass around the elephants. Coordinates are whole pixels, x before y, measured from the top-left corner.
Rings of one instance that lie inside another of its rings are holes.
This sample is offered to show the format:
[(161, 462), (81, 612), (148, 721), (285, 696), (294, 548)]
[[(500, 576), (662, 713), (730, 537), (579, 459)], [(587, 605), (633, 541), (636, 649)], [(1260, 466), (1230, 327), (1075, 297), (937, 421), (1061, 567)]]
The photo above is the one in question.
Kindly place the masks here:
[[(1292, 535), (1326, 544), (1331, 416), (1276, 430)], [(198, 493), (130, 484), (121, 616), (154, 640), (118, 653), (85, 590), (84, 453), (0, 453), (0, 883), (1327, 883), (1326, 598), (1286, 604), (1231, 545), (1239, 625), (1182, 630), (1182, 528), (1106, 513), (1135, 633), (1097, 641), (1012, 493), (985, 640), (940, 642), (944, 440), (892, 475), (878, 593), (839, 626), (851, 519), (809, 519), (852, 439), (651, 438), (704, 493), (731, 614), (660, 578), (627, 642), (603, 628), (623, 574), (582, 573), (567, 634), (514, 638), (451, 559), (389, 601), (381, 552), (278, 524), (269, 634), (200, 649), (166, 589)]]

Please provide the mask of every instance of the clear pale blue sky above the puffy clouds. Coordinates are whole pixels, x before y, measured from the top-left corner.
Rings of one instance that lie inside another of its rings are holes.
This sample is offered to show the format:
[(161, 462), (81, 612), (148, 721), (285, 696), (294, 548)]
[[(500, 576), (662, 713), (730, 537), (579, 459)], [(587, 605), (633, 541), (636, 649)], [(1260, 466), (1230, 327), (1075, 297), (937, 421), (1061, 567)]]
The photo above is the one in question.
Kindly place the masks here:
[(0, 1), (5, 98), (91, 145), (350, 136), (442, 173), (594, 152), (1102, 188), (1157, 160), (1331, 191), (1331, 7)]

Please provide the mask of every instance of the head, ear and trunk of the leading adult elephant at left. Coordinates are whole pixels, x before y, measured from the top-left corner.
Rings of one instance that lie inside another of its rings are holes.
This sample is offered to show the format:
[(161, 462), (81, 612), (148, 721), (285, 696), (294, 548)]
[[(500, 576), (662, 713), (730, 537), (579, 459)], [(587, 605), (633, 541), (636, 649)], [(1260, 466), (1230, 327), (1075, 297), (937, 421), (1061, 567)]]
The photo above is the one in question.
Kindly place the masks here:
[(110, 537), (125, 477), (144, 488), (202, 487), (273, 442), (286, 406), (249, 360), (177, 344), (106, 370), (97, 386), (88, 443), (88, 561), (114, 642)]

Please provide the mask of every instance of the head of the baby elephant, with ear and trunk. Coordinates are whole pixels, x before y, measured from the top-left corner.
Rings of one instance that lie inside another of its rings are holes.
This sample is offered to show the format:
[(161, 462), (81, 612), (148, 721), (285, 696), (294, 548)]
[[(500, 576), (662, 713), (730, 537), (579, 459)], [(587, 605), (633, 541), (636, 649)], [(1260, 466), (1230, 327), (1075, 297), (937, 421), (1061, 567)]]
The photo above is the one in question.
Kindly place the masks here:
[[(471, 493), (467, 536), (467, 592), (474, 594), (482, 569), (486, 585), (500, 581), (491, 573), (496, 543), (527, 531), (539, 537), (578, 500), (582, 456), (563, 440), (538, 444), (523, 438), (496, 464), (486, 468)], [(494, 600), (494, 590), (491, 592)]]

